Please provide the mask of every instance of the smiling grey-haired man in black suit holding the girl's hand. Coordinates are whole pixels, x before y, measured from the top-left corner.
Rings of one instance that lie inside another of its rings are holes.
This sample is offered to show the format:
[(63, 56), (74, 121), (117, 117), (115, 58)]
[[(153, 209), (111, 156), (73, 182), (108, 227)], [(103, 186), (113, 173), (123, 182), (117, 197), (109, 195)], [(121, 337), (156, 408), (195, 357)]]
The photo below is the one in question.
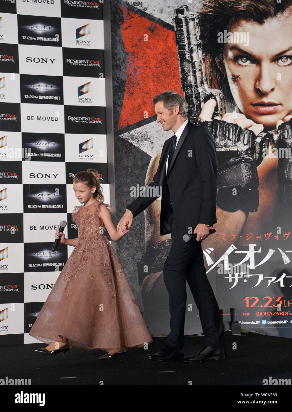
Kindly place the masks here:
[[(187, 281), (199, 309), (206, 345), (184, 361), (221, 359), (226, 355), (224, 326), (206, 276), (201, 247), (202, 240), (209, 236), (209, 227), (217, 222), (215, 143), (205, 126), (195, 126), (187, 120), (187, 103), (179, 94), (165, 91), (153, 99), (153, 104), (157, 122), (164, 131), (172, 130), (174, 136), (163, 145), (153, 182), (145, 189), (146, 196), (138, 197), (127, 206), (117, 226), (121, 233), (127, 233), (133, 218), (162, 195), (160, 235), (171, 233), (172, 241), (163, 269), (171, 332), (160, 351), (147, 358), (182, 360)], [(196, 233), (196, 240), (184, 242), (186, 233)]]

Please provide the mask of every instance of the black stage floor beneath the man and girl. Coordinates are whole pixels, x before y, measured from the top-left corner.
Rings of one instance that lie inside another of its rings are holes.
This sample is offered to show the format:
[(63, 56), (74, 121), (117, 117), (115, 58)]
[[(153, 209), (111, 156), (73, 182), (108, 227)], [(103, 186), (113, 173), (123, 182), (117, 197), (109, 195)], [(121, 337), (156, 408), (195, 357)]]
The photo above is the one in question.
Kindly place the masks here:
[[(1, 346), (0, 379), (30, 379), (31, 385), (263, 385), (263, 379), (292, 378), (292, 340), (262, 335), (226, 336), (224, 361), (196, 364), (155, 362), (146, 359), (165, 338), (143, 348), (130, 349), (125, 358), (98, 360), (100, 349), (73, 348), (65, 356), (45, 356), (35, 349), (46, 344)], [(190, 356), (204, 346), (204, 337), (185, 337)], [(271, 387), (270, 387), (271, 389)]]

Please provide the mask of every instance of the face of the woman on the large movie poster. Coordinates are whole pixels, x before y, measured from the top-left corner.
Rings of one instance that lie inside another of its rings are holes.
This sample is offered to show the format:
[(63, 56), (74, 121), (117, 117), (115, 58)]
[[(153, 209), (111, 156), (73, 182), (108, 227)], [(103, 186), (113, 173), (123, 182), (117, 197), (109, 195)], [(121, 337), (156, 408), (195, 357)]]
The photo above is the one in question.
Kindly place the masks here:
[(249, 119), (274, 126), (292, 114), (292, 14), (285, 12), (262, 25), (240, 21), (228, 31), (249, 33), (248, 45), (233, 39), (223, 49), (221, 70), (234, 101)]

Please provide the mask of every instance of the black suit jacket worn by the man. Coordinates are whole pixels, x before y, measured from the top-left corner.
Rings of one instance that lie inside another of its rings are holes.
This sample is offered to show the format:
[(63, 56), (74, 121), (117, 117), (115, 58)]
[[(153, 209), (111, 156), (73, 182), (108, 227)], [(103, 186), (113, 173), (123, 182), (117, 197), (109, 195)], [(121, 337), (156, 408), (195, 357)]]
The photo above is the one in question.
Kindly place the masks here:
[[(169, 204), (165, 204), (166, 183), (174, 217), (181, 229), (195, 227), (198, 223), (211, 226), (217, 223), (217, 163), (213, 136), (205, 126), (196, 126), (189, 121), (178, 140), (166, 176), (165, 166), (171, 140), (172, 138), (167, 139), (163, 145), (157, 172), (153, 182), (146, 187), (144, 196), (140, 195), (127, 206), (135, 217), (157, 199), (162, 190), (161, 236), (170, 233)], [(156, 192), (151, 187), (156, 188)]]

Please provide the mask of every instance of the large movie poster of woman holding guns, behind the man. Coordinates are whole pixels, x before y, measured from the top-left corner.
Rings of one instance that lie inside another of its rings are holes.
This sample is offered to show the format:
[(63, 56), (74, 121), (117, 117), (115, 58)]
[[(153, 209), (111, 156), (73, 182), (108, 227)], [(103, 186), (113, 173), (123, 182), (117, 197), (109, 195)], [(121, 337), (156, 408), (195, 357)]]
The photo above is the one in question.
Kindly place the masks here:
[[(216, 143), (218, 223), (202, 248), (225, 329), (235, 308), (241, 329), (292, 337), (292, 1), (242, 3), (111, 2), (116, 218), (153, 180), (172, 133), (152, 99), (173, 90)], [(167, 335), (159, 218), (158, 198), (117, 249), (149, 331)], [(200, 333), (187, 293), (185, 334)]]

